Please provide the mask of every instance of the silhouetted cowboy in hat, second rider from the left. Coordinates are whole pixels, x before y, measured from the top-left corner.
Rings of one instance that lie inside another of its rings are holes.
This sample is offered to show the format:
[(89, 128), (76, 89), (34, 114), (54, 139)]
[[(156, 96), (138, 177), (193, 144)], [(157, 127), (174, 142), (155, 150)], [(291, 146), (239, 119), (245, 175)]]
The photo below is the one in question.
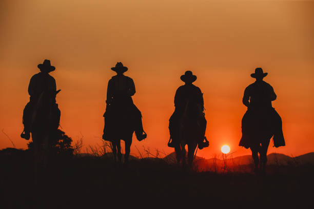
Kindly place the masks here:
[(111, 68), (111, 70), (115, 71), (116, 75), (112, 76), (108, 82), (103, 139), (111, 140), (110, 136), (106, 136), (107, 122), (109, 121), (110, 123), (110, 118), (115, 117), (116, 111), (125, 111), (134, 118), (135, 135), (136, 138), (141, 141), (145, 139), (147, 135), (143, 130), (142, 114), (140, 110), (136, 108), (132, 100), (132, 96), (135, 94), (133, 79), (123, 75), (128, 68), (123, 66), (121, 62), (117, 62), (115, 67)]

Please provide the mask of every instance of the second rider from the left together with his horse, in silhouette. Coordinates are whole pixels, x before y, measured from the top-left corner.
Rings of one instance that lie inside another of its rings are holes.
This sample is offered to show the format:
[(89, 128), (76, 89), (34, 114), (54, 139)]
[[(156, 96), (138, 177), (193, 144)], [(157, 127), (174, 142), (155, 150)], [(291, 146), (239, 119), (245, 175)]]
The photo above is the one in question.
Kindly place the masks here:
[[(111, 141), (114, 161), (116, 157), (121, 162), (121, 140), (125, 142), (124, 163), (127, 164), (133, 132), (139, 141), (147, 134), (143, 129), (141, 111), (134, 105), (132, 96), (135, 94), (135, 85), (132, 78), (123, 75), (128, 70), (122, 62), (117, 62), (111, 70), (116, 72), (108, 81), (105, 126), (103, 139)], [(144, 132), (144, 134), (143, 134)]]

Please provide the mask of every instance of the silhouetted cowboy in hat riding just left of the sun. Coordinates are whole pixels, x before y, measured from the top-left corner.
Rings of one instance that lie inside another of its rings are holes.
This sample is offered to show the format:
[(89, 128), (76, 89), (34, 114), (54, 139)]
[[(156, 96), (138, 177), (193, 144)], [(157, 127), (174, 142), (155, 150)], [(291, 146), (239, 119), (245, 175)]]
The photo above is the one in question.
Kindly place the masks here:
[[(169, 132), (171, 137), (171, 142), (168, 143), (168, 146), (171, 148), (175, 148), (179, 144), (179, 126), (180, 119), (182, 118), (186, 103), (189, 102), (191, 106), (198, 106), (201, 109), (202, 114), (199, 115), (200, 126), (202, 128), (202, 139), (205, 138), (205, 130), (206, 130), (206, 119), (205, 114), (203, 114), (204, 110), (204, 100), (203, 93), (201, 89), (197, 86), (194, 86), (192, 82), (197, 79), (197, 76), (193, 75), (191, 71), (186, 71), (184, 75), (180, 77), (180, 79), (185, 82), (185, 85), (179, 87), (174, 96), (174, 112), (169, 119)], [(206, 140), (206, 139), (205, 139)], [(207, 140), (206, 140), (207, 141)], [(207, 142), (203, 143), (203, 140), (199, 142), (199, 149), (203, 149), (204, 147), (208, 147), (206, 145)]]

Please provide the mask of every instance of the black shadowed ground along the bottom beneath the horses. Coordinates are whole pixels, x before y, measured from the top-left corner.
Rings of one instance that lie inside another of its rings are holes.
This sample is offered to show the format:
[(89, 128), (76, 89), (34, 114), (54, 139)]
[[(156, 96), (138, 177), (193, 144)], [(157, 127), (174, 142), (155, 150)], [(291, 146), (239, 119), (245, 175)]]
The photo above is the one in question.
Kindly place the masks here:
[(268, 166), (266, 176), (250, 173), (184, 172), (163, 160), (58, 159), (35, 184), (25, 151), (1, 155), (1, 208), (138, 208), (189, 203), (206, 208), (313, 208), (314, 166)]

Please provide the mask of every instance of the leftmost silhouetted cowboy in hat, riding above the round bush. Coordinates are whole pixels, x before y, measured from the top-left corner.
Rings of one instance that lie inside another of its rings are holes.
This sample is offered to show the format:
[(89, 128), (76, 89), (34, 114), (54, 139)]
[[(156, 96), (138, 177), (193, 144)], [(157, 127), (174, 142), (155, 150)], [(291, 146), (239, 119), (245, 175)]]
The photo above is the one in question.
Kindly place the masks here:
[[(28, 86), (30, 101), (27, 103), (23, 111), (24, 131), (22, 132), (21, 137), (26, 140), (30, 138), (33, 111), (34, 108), (36, 108), (38, 99), (40, 99), (43, 92), (51, 91), (54, 95), (52, 102), (55, 103), (55, 95), (57, 93), (55, 79), (49, 75), (50, 72), (55, 70), (55, 67), (50, 65), (50, 60), (45, 59), (43, 64), (39, 64), (37, 67), (41, 72), (33, 75), (30, 79)], [(57, 104), (53, 107), (57, 109)], [(53, 111), (60, 112), (58, 109)], [(60, 120), (60, 114), (58, 114), (58, 119), (56, 120)]]

